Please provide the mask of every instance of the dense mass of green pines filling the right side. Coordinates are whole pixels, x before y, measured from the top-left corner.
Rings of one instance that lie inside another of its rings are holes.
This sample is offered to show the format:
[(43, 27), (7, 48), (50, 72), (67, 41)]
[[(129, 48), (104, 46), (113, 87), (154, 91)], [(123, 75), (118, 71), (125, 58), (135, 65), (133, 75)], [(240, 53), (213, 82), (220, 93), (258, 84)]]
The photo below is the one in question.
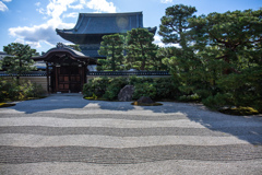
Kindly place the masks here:
[(262, 10), (198, 18), (193, 12), (168, 8), (159, 31), (164, 43), (181, 46), (159, 51), (178, 81), (179, 100), (195, 96), (214, 109), (250, 106), (261, 113)]

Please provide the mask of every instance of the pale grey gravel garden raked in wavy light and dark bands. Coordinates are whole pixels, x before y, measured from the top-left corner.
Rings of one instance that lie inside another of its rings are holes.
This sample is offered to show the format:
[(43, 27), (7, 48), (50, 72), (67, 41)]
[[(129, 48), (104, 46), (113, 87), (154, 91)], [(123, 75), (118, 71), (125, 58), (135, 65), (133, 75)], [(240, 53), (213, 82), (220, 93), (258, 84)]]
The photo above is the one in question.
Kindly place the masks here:
[(0, 108), (0, 174), (262, 174), (262, 116), (58, 94)]

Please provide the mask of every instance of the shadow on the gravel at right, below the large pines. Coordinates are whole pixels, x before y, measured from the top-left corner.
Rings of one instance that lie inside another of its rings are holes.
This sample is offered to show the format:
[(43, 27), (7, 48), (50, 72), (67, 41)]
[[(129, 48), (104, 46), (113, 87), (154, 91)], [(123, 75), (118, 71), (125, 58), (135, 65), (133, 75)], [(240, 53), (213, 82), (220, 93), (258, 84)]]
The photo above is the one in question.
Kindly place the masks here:
[[(262, 147), (262, 116), (233, 116), (218, 112), (212, 112), (202, 104), (190, 103), (163, 103), (158, 107), (143, 107), (154, 113), (182, 113), (191, 121), (199, 122), (205, 128), (229, 133), (248, 141), (251, 144)], [(223, 138), (222, 138), (223, 139)]]

